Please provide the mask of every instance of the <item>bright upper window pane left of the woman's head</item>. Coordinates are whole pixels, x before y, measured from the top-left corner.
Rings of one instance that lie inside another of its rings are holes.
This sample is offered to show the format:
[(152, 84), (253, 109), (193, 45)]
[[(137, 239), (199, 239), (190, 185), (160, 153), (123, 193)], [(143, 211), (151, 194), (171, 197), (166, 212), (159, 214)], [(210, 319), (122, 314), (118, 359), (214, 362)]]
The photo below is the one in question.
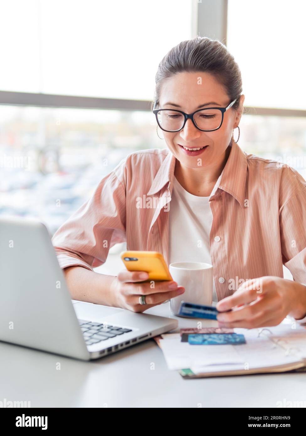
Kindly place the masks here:
[(190, 0), (3, 3), (2, 91), (152, 99), (158, 63), (192, 36)]

